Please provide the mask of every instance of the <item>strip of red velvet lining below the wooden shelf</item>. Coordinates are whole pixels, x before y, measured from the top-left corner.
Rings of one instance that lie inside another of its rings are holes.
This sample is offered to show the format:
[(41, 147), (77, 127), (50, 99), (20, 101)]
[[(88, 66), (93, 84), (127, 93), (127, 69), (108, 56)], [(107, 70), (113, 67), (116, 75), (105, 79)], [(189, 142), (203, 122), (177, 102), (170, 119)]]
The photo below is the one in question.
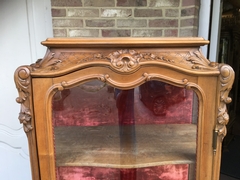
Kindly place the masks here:
[(187, 180), (188, 165), (176, 164), (138, 169), (58, 167), (57, 180)]

